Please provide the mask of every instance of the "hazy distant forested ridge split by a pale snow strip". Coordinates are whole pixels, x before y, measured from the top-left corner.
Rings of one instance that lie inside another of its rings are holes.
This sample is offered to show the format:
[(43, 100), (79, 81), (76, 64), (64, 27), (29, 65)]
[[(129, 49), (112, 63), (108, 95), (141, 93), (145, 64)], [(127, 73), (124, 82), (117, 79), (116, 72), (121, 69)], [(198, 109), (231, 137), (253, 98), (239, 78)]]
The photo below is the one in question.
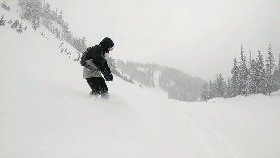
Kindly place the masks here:
[(128, 74), (140, 84), (153, 88), (155, 71), (160, 71), (159, 86), (168, 93), (168, 98), (180, 101), (197, 101), (205, 80), (192, 77), (180, 70), (152, 63), (116, 61), (117, 68)]

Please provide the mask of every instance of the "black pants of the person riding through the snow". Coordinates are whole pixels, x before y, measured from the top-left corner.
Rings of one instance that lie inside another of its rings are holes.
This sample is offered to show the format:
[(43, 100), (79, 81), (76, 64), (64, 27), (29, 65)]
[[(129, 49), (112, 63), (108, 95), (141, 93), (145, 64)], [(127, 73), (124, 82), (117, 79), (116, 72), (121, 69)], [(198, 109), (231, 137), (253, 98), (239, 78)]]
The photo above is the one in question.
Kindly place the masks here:
[(86, 80), (94, 94), (103, 94), (109, 91), (103, 77), (86, 78)]

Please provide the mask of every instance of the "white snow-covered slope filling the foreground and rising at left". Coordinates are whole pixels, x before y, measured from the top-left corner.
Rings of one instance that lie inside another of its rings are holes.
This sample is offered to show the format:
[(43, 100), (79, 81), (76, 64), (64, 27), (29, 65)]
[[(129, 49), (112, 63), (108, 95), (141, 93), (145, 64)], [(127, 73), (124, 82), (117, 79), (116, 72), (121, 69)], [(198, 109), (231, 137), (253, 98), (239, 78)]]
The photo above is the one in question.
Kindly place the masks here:
[(115, 76), (109, 100), (89, 98), (41, 31), (0, 27), (0, 158), (280, 157), (280, 92), (181, 102)]

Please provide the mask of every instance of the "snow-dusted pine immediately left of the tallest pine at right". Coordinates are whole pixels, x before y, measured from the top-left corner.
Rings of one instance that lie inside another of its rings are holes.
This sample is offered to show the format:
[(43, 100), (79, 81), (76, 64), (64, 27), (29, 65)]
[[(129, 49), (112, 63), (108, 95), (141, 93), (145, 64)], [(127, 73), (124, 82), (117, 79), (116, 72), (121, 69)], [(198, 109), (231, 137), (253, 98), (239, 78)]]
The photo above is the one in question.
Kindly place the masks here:
[(263, 57), (261, 51), (258, 51), (258, 56), (256, 58), (256, 92), (264, 93), (265, 88), (265, 69), (263, 63)]

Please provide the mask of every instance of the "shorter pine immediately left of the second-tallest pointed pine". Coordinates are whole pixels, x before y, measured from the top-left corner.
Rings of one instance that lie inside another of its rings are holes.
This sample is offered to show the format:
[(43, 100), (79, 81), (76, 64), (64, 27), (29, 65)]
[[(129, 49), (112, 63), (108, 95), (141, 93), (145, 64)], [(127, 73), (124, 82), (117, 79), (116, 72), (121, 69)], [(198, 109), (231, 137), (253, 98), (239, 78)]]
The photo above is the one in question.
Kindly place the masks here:
[(238, 75), (239, 75), (239, 63), (237, 61), (236, 58), (234, 58), (233, 60), (233, 64), (232, 64), (232, 70), (231, 70), (231, 95), (232, 97), (235, 97), (238, 95), (238, 83), (239, 83), (239, 79), (238, 79)]

